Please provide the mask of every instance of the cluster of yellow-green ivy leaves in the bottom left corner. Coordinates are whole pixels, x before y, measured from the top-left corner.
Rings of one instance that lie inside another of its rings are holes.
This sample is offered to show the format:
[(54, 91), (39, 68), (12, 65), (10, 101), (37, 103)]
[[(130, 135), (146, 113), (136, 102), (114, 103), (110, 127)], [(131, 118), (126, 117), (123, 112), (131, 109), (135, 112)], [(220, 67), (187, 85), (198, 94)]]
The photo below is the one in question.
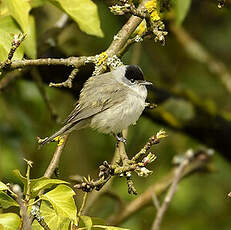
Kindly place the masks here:
[[(30, 166), (28, 165), (28, 168)], [(58, 179), (49, 179), (45, 177), (30, 179), (24, 177), (19, 170), (14, 170), (14, 174), (23, 183), (23, 193), (29, 197), (27, 201), (29, 204), (28, 216), (41, 215), (51, 230), (68, 229), (70, 226), (78, 225), (77, 221), (77, 207), (73, 196), (75, 192), (67, 185), (66, 181)], [(11, 206), (19, 207), (15, 198), (19, 199), (19, 193), (14, 191), (14, 188), (8, 187), (0, 181), (0, 207), (7, 209)], [(41, 192), (45, 192), (42, 194)], [(29, 191), (29, 193), (28, 193)], [(7, 193), (10, 193), (8, 195)], [(17, 193), (17, 194), (16, 194)], [(39, 195), (40, 194), (40, 195)], [(42, 195), (41, 195), (42, 194)], [(39, 196), (39, 198), (38, 198)], [(36, 199), (35, 199), (36, 197)], [(34, 211), (34, 206), (41, 200), (40, 213)], [(80, 229), (109, 229), (122, 230), (122, 228), (106, 226), (103, 221), (89, 216), (80, 216)], [(38, 220), (38, 218), (36, 219)], [(17, 229), (20, 225), (20, 217), (14, 213), (0, 214), (0, 224), (4, 229)], [(33, 229), (43, 229), (39, 221), (35, 221), (32, 225)]]

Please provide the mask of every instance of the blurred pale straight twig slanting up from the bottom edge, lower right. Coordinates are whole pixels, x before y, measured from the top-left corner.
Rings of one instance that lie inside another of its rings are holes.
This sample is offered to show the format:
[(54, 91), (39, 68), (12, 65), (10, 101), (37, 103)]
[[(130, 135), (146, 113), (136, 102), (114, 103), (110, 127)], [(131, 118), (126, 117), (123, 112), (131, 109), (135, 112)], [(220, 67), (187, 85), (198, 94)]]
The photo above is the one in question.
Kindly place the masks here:
[(171, 200), (172, 200), (172, 198), (176, 192), (177, 185), (180, 181), (180, 178), (183, 175), (184, 169), (186, 168), (186, 166), (189, 164), (190, 160), (193, 157), (193, 154), (191, 154), (191, 152), (192, 152), (192, 150), (188, 150), (188, 154), (186, 154), (185, 159), (181, 162), (181, 164), (176, 169), (172, 184), (169, 187), (169, 190), (168, 190), (168, 192), (164, 198), (164, 201), (163, 201), (161, 207), (157, 211), (156, 218), (155, 218), (153, 225), (152, 225), (152, 228), (151, 228), (152, 230), (159, 230), (160, 229), (160, 224), (161, 224), (163, 217), (164, 217), (164, 214), (167, 211), (169, 204), (170, 204), (170, 202), (171, 202)]

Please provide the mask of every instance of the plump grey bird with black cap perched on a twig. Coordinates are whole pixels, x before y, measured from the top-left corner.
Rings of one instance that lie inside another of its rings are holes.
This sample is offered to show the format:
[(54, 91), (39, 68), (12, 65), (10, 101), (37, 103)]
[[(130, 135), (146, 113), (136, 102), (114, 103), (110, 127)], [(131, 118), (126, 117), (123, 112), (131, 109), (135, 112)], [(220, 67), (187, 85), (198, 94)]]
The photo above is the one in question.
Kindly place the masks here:
[(111, 72), (90, 77), (84, 84), (79, 101), (60, 128), (41, 145), (54, 141), (73, 130), (96, 129), (113, 134), (117, 141), (126, 142), (122, 130), (135, 124), (146, 107), (147, 88), (138, 65), (122, 65)]

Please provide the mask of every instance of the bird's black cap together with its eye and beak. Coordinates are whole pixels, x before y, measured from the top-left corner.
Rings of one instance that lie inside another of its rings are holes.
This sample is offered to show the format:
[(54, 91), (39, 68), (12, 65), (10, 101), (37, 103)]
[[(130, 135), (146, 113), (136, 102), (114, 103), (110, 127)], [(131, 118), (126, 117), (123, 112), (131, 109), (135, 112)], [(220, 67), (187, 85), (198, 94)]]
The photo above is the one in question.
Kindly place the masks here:
[(127, 65), (125, 77), (132, 83), (137, 82), (141, 85), (151, 85), (151, 82), (144, 80), (144, 73), (138, 65)]

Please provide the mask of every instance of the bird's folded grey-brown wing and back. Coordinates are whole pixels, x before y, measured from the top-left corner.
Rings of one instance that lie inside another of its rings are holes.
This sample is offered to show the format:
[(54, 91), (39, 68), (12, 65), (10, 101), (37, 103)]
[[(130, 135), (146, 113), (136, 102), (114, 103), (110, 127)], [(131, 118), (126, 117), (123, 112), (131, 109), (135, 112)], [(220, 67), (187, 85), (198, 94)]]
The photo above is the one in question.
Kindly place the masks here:
[(127, 91), (128, 88), (116, 81), (110, 73), (89, 78), (81, 91), (78, 104), (65, 124), (76, 123), (122, 103), (127, 97)]

